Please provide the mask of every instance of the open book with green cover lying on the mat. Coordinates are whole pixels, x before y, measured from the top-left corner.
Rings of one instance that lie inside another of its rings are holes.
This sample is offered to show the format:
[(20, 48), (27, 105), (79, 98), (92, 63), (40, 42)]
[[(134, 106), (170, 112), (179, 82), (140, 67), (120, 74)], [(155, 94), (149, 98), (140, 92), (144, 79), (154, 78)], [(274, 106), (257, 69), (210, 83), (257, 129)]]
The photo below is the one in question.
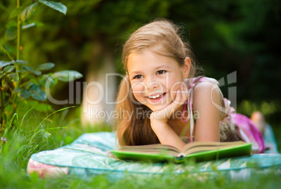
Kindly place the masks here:
[(206, 142), (194, 141), (185, 145), (182, 151), (178, 148), (161, 144), (143, 146), (122, 146), (111, 151), (120, 160), (141, 160), (148, 162), (184, 162), (194, 159), (196, 162), (217, 160), (251, 155), (252, 144), (244, 141)]

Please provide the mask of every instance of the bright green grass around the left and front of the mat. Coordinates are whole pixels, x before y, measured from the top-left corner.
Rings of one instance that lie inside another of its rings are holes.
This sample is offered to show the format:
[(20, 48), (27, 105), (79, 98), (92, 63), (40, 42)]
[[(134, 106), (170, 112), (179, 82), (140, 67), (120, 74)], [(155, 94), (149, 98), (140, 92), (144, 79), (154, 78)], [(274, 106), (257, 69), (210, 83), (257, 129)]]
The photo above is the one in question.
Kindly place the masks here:
[[(6, 133), (8, 142), (2, 144), (0, 154), (0, 188), (276, 188), (281, 183), (280, 173), (257, 169), (250, 178), (231, 181), (224, 172), (213, 174), (157, 174), (136, 176), (126, 174), (124, 179), (109, 179), (106, 175), (81, 179), (63, 176), (56, 179), (39, 179), (37, 174), (27, 175), (27, 162), (33, 153), (53, 150), (71, 144), (86, 132), (110, 131), (110, 127), (80, 127), (78, 118), (68, 110), (50, 116), (38, 116), (29, 111), (24, 118), (15, 120)], [(280, 139), (280, 137), (276, 137)], [(280, 140), (278, 141), (280, 142)], [(279, 143), (280, 146), (280, 143)], [(173, 165), (171, 165), (173, 167)]]

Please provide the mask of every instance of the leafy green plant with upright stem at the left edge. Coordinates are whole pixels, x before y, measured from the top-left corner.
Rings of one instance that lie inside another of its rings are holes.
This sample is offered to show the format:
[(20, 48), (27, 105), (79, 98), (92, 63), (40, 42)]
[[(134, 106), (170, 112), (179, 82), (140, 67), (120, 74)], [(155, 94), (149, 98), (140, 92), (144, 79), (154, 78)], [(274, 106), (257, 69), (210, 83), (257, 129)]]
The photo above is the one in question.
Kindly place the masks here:
[(0, 44), (1, 52), (9, 59), (0, 60), (0, 136), (5, 132), (8, 120), (17, 111), (28, 111), (31, 108), (36, 111), (51, 111), (52, 107), (46, 103), (46, 91), (54, 87), (58, 80), (68, 82), (82, 77), (78, 71), (70, 70), (47, 73), (55, 66), (52, 62), (32, 67), (21, 59), (22, 29), (40, 26), (40, 22), (31, 22), (31, 17), (39, 6), (48, 6), (64, 15), (67, 11), (62, 3), (42, 0), (31, 2), (23, 6), (21, 1), (17, 0), (17, 8), (10, 13), (10, 21), (6, 25), (6, 41), (17, 38), (16, 59), (10, 55), (6, 45)]

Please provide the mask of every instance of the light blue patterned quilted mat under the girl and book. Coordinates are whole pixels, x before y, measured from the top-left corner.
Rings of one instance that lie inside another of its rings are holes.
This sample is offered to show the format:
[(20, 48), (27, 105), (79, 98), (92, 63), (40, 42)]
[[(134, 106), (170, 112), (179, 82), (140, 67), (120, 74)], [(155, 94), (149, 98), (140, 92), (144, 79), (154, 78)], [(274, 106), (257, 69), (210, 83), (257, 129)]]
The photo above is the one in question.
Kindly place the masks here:
[[(268, 128), (267, 153), (250, 157), (228, 158), (209, 162), (172, 165), (122, 161), (112, 158), (110, 150), (116, 149), (114, 132), (82, 134), (72, 144), (52, 151), (31, 155), (27, 173), (37, 172), (41, 178), (75, 175), (81, 178), (105, 174), (110, 179), (122, 179), (126, 174), (149, 176), (174, 172), (181, 174), (224, 172), (231, 179), (247, 178), (253, 171), (273, 169), (281, 172), (281, 154), (278, 153), (271, 128)], [(266, 139), (266, 137), (265, 137)]]

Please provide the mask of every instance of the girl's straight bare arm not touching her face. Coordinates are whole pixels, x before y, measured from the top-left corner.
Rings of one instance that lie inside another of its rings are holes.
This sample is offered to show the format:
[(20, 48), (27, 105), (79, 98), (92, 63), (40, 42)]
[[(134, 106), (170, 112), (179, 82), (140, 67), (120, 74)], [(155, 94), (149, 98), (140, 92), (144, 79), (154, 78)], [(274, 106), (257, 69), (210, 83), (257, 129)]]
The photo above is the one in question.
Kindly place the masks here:
[[(219, 120), (222, 111), (221, 93), (214, 84), (202, 82), (194, 87), (193, 110), (196, 118), (195, 141), (219, 141)], [(212, 90), (213, 88), (213, 90)]]

